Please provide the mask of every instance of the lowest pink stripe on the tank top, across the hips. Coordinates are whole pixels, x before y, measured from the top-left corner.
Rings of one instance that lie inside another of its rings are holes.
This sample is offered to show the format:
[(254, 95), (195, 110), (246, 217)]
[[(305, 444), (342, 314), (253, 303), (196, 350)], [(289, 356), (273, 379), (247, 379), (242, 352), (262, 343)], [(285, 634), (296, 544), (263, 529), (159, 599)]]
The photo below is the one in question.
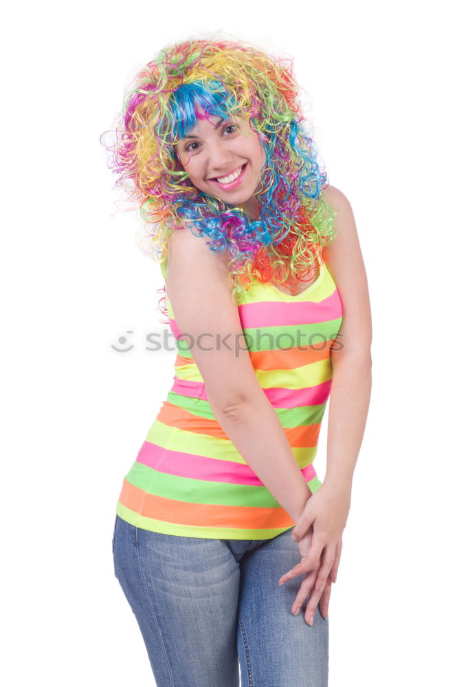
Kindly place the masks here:
[[(206, 458), (206, 456), (197, 455), (196, 453), (170, 451), (148, 441), (144, 441), (142, 444), (137, 454), (136, 462), (142, 463), (153, 470), (159, 469), (160, 473), (186, 477), (190, 480), (264, 486), (263, 482), (260, 481), (249, 465), (232, 462), (231, 460)], [(316, 474), (313, 464), (302, 468), (300, 472), (306, 482), (312, 480)]]

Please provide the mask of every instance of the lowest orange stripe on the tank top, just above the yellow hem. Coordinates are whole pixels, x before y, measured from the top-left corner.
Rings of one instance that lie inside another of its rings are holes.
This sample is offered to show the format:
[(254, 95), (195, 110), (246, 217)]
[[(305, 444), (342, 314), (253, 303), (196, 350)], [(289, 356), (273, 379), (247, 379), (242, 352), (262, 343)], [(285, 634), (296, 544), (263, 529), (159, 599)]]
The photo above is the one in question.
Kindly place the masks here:
[(142, 489), (123, 480), (119, 498), (126, 508), (155, 520), (188, 526), (232, 527), (240, 530), (274, 529), (292, 526), (293, 520), (284, 508), (254, 508), (242, 506), (211, 506), (187, 504), (147, 494)]

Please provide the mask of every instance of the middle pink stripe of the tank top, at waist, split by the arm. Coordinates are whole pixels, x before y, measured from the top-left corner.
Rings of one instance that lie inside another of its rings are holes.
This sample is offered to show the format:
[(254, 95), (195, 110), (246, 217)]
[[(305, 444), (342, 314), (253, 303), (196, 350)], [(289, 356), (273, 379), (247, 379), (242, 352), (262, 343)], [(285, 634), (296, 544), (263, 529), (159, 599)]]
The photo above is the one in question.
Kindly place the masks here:
[[(296, 408), (306, 405), (320, 405), (329, 398), (332, 380), (316, 384), (304, 389), (287, 389), (286, 387), (273, 387), (263, 389), (274, 408)], [(206, 385), (203, 382), (192, 382), (187, 379), (174, 377), (171, 391), (180, 396), (199, 398), (201, 401), (208, 401)]]

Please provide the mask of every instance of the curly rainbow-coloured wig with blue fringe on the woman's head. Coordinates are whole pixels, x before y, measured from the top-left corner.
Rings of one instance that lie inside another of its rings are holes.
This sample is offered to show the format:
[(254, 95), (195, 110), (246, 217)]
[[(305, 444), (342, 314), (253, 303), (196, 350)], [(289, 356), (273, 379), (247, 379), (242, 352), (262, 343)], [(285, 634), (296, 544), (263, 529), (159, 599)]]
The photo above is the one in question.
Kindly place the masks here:
[[(289, 65), (286, 63), (289, 62)], [(167, 259), (170, 234), (193, 233), (225, 252), (233, 293), (252, 280), (295, 286), (335, 238), (335, 210), (300, 106), (293, 60), (236, 41), (188, 40), (160, 51), (135, 76), (118, 117), (110, 168), (115, 186), (151, 230), (153, 259)], [(244, 117), (265, 150), (255, 196), (257, 219), (202, 192), (179, 163), (175, 145), (205, 115)], [(312, 278), (312, 275), (311, 277)]]

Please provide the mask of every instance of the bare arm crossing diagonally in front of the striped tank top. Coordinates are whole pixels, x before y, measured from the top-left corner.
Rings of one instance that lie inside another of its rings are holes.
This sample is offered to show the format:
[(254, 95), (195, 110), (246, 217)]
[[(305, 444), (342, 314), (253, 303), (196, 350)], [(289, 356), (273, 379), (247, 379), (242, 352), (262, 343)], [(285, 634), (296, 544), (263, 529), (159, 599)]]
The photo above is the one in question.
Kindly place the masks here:
[[(206, 240), (188, 228), (175, 230), (170, 237), (166, 292), (181, 333), (195, 342), (192, 356), (215, 418), (295, 523), (311, 491), (256, 379), (238, 308), (231, 299), (225, 258), (212, 254)], [(217, 339), (228, 345), (217, 345)]]

